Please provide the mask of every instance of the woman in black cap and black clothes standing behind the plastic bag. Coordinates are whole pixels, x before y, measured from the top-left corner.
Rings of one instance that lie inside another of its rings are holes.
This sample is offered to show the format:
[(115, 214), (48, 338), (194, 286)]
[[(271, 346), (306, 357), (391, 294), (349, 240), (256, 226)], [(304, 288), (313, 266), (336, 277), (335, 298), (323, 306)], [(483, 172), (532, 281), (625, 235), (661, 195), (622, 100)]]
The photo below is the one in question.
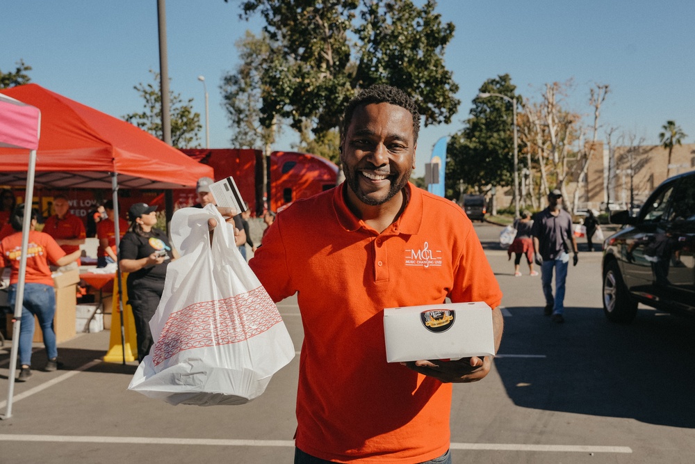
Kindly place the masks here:
[(120, 269), (129, 273), (126, 280), (127, 303), (133, 308), (140, 362), (145, 359), (154, 342), (149, 320), (162, 298), (167, 265), (173, 258), (167, 234), (154, 227), (157, 223), (156, 209), (156, 206), (147, 203), (136, 203), (130, 207), (130, 225), (119, 250)]

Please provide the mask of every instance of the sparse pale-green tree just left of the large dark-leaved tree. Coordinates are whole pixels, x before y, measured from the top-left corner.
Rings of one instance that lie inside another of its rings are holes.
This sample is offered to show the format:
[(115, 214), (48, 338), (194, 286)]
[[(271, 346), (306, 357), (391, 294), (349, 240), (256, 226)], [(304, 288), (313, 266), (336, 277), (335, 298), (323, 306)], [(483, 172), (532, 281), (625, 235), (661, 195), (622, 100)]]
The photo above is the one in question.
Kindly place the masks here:
[(241, 64), (234, 72), (222, 78), (222, 98), (233, 131), (231, 146), (262, 149), (275, 142), (279, 121), (271, 120), (270, 126), (261, 124), (263, 115), (263, 68), (272, 61), (273, 47), (268, 34), (256, 37), (246, 31), (243, 39), (235, 44)]

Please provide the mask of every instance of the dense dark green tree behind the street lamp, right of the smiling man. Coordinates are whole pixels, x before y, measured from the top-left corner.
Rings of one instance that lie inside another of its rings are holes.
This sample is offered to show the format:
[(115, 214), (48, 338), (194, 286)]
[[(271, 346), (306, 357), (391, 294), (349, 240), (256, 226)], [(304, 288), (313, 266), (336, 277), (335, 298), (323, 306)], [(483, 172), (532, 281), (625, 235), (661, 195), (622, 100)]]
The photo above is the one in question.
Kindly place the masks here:
[[(480, 93), (498, 93), (509, 99), (516, 95), (509, 74), (486, 80)], [(459, 181), (467, 191), (480, 193), (487, 186), (509, 186), (514, 177), (514, 110), (500, 97), (475, 97), (471, 117), (464, 129), (447, 144), (447, 195), (456, 195)]]

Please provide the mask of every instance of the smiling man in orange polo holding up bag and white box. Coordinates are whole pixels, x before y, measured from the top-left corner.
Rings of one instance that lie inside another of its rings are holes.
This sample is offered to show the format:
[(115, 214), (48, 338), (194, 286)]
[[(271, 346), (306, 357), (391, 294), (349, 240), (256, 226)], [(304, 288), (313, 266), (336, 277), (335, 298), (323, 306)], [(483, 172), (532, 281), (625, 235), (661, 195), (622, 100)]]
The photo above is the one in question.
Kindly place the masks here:
[(343, 120), (345, 182), (278, 214), (250, 262), (302, 312), (295, 463), (450, 463), (451, 383), (480, 380), (491, 360), (389, 364), (383, 310), (485, 301), (499, 346), (502, 293), (461, 208), (408, 182), (414, 101), (374, 86)]

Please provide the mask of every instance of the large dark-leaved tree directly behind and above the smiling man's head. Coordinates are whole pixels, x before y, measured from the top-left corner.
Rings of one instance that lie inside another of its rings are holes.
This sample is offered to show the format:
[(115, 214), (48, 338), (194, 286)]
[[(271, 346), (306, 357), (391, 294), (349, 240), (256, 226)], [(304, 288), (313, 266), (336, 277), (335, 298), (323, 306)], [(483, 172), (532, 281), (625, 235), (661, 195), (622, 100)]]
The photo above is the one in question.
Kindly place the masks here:
[[(262, 121), (279, 115), (314, 134), (340, 126), (359, 89), (389, 83), (409, 91), (425, 125), (450, 122), (459, 100), (443, 65), (454, 33), (436, 2), (412, 0), (245, 0), (240, 17), (259, 13), (273, 47), (262, 70)], [(358, 19), (359, 17), (359, 19)]]

